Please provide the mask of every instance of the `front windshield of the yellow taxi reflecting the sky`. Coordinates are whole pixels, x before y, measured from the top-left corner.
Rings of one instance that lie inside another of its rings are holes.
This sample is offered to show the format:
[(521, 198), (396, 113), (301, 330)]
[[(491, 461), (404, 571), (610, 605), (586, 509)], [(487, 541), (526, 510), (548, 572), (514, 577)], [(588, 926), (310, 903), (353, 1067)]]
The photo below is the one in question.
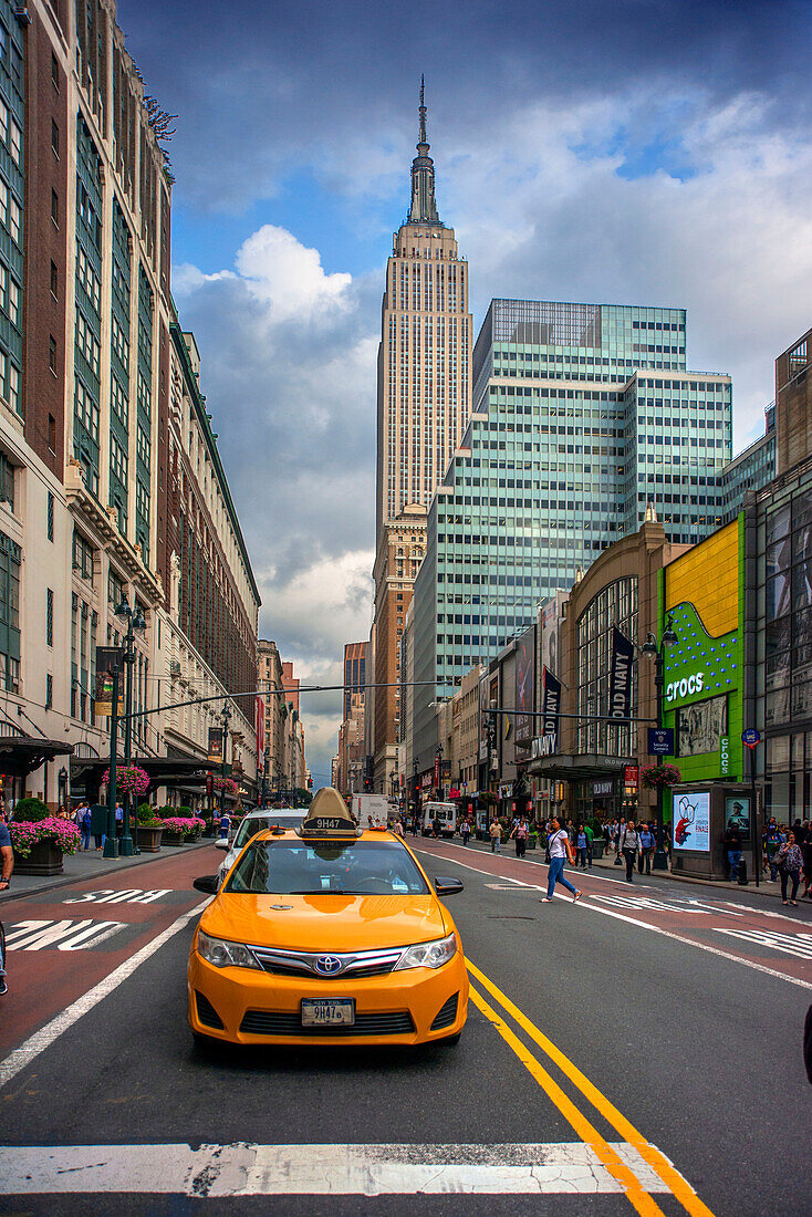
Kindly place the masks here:
[(425, 896), (426, 881), (392, 841), (256, 841), (231, 873), (229, 892), (304, 896)]

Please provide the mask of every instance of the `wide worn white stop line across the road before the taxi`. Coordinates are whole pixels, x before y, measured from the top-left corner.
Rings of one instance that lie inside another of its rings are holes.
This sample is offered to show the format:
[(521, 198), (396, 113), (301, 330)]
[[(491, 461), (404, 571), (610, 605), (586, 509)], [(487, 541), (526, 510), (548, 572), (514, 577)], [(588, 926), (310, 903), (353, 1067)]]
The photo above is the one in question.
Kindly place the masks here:
[[(667, 1184), (626, 1142), (612, 1149), (646, 1193)], [(0, 1193), (213, 1196), (623, 1193), (582, 1142), (542, 1145), (4, 1146)]]

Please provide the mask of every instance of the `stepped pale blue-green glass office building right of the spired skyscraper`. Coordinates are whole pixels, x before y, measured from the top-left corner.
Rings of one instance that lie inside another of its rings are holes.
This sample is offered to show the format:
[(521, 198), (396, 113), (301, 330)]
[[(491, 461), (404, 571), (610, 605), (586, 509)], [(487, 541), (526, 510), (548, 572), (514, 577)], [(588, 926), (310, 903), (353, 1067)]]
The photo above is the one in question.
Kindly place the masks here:
[(673, 542), (709, 535), (732, 454), (730, 378), (687, 370), (683, 309), (494, 299), (474, 385), (415, 583), (415, 679), (441, 696), (649, 506)]

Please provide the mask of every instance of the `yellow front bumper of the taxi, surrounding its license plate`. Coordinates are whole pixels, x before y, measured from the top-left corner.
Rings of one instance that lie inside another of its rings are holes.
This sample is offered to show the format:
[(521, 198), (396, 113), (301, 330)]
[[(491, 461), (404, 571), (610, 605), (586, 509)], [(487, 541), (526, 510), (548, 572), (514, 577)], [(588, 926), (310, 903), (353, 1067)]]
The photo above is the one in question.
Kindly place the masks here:
[[(343, 981), (214, 968), (196, 949), (189, 957), (189, 1026), (197, 1034), (235, 1044), (431, 1043), (461, 1031), (467, 993), (461, 950), (442, 968)], [(303, 998), (352, 998), (354, 1026), (303, 1028)]]

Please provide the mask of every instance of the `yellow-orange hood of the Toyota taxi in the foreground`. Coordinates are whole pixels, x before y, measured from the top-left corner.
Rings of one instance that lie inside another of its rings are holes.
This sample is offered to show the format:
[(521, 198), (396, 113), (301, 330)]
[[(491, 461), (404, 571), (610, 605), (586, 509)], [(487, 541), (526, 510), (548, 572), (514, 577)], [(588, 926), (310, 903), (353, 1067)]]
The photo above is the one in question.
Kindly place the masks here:
[[(274, 905), (278, 905), (274, 908)], [(215, 938), (282, 950), (371, 950), (444, 938), (453, 925), (436, 896), (267, 896), (220, 892), (201, 918)]]

